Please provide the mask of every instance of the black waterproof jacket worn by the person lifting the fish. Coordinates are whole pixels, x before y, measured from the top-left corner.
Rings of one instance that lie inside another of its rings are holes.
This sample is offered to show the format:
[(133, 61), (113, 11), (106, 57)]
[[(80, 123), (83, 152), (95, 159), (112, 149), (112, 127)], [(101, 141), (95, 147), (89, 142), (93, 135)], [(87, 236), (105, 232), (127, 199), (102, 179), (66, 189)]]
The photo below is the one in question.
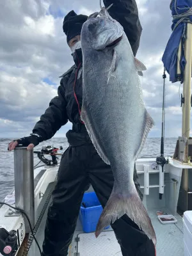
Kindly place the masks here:
[[(109, 15), (123, 26), (134, 56), (136, 56), (142, 31), (136, 1), (104, 0), (106, 8), (111, 3), (113, 6), (109, 8)], [(61, 76), (58, 96), (51, 100), (49, 108), (36, 123), (33, 133), (42, 136), (42, 140), (48, 140), (62, 125), (70, 121), (73, 128), (66, 134), (70, 145), (77, 146), (90, 143), (90, 138), (80, 119), (83, 99), (82, 83), (82, 60), (77, 58), (75, 65)]]

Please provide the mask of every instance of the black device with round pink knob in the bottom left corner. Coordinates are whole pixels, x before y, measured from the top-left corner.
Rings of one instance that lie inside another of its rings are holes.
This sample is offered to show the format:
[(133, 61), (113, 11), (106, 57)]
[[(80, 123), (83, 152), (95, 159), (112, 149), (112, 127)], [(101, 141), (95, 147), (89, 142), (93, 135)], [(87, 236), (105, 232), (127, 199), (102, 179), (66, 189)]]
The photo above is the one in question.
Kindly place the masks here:
[(4, 228), (0, 228), (0, 253), (3, 256), (13, 256), (18, 250), (17, 232), (11, 230), (8, 232)]

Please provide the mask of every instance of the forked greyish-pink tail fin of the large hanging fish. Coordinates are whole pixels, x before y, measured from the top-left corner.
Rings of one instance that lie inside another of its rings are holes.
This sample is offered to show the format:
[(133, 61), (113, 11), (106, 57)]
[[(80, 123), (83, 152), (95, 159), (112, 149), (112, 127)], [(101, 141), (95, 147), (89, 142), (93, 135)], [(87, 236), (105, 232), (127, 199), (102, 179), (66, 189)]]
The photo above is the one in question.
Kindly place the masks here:
[(105, 227), (114, 223), (124, 214), (127, 214), (156, 245), (154, 228), (136, 189), (132, 193), (115, 193), (115, 191), (111, 193), (108, 203), (100, 215), (95, 236), (98, 237)]

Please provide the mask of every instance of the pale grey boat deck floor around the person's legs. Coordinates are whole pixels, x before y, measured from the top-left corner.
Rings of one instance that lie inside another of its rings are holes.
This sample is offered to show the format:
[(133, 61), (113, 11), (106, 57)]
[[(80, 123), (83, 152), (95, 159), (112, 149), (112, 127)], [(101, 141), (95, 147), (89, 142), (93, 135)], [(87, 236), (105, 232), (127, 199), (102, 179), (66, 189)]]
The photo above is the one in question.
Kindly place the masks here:
[[(183, 231), (182, 231), (182, 217), (179, 214), (175, 215), (177, 223), (175, 224), (161, 224), (157, 219), (156, 211), (153, 209), (148, 211), (148, 214), (154, 225), (157, 236), (157, 256), (184, 256), (183, 248)], [(170, 213), (168, 209), (162, 208), (161, 210)], [(40, 245), (44, 239), (44, 227), (47, 212), (45, 212), (44, 219), (38, 228), (36, 238)], [(76, 239), (79, 237), (79, 239)], [(79, 240), (79, 241), (77, 241)], [(32, 251), (31, 251), (32, 250)], [(30, 253), (31, 251), (31, 253)], [(35, 254), (34, 254), (35, 252)], [(30, 256), (39, 256), (35, 241), (29, 250)], [(120, 246), (116, 241), (115, 234), (111, 228), (102, 232), (96, 239), (95, 233), (84, 233), (82, 230), (81, 222), (77, 221), (76, 232), (74, 233), (72, 244), (70, 244), (68, 256), (122, 256)]]

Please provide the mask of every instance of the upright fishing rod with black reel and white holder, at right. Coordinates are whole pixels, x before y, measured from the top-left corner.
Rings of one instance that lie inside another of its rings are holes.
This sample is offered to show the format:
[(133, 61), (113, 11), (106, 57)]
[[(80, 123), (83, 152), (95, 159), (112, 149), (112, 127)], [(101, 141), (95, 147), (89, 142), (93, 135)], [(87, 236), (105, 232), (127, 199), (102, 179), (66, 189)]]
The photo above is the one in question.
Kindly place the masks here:
[(164, 193), (164, 164), (168, 164), (168, 159), (164, 158), (164, 120), (165, 120), (165, 79), (166, 69), (163, 72), (163, 107), (162, 107), (162, 122), (161, 122), (161, 154), (157, 156), (156, 163), (159, 164), (159, 199), (162, 199)]

